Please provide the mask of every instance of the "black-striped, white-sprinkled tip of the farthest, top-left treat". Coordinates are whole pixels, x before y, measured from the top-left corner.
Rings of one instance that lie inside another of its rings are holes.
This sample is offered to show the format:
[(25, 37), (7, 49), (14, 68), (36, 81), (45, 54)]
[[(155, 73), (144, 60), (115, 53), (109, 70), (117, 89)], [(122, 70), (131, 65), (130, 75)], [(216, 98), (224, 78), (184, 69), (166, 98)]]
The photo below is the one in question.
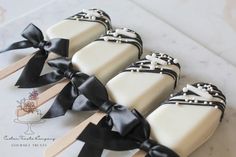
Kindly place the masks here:
[(112, 29), (111, 19), (107, 13), (100, 9), (84, 9), (82, 12), (75, 14), (69, 18), (69, 20), (78, 20), (78, 21), (89, 21), (89, 22), (99, 22), (106, 30)]

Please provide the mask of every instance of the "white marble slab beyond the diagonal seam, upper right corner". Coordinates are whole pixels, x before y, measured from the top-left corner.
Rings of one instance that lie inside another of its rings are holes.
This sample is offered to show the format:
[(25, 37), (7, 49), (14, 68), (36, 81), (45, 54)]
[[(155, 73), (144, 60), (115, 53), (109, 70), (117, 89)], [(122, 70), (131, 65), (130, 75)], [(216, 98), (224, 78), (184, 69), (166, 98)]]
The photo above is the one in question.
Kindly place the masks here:
[[(132, 0), (155, 17), (236, 65), (235, 0)], [(153, 5), (155, 4), (155, 5)]]

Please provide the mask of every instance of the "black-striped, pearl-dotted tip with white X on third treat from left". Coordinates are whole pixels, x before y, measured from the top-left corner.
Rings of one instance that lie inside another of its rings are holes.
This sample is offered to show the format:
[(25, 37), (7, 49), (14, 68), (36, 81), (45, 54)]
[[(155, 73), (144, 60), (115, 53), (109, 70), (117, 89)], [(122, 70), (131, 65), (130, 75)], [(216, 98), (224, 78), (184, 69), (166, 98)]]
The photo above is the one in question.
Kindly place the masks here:
[(174, 65), (180, 69), (180, 65), (177, 59), (174, 59), (169, 55), (163, 53), (152, 53), (151, 55), (147, 55), (144, 59), (131, 64), (124, 71), (159, 73), (169, 75), (175, 80), (176, 87), (179, 75), (172, 68), (168, 68), (169, 65)]

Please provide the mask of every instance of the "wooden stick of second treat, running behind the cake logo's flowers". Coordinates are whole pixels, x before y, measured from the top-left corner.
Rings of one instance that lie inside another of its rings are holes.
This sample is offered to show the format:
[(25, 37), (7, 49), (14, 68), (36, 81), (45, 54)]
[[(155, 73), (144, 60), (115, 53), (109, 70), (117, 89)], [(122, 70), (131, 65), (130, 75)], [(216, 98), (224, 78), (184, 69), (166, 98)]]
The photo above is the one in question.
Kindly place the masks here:
[[(55, 97), (67, 85), (68, 82), (68, 80), (63, 80), (62, 82), (57, 83), (56, 85), (44, 91), (43, 93), (39, 94), (36, 108), (40, 107), (48, 100)], [(28, 112), (25, 112), (22, 109), (17, 109), (16, 113), (18, 116), (24, 116), (28, 114)]]

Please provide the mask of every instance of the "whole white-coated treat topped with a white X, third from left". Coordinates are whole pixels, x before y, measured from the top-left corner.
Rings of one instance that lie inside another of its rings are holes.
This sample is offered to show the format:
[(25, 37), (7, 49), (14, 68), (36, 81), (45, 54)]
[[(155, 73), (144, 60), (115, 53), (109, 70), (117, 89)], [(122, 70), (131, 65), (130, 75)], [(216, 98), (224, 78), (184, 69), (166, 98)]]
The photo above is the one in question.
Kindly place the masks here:
[(112, 101), (147, 115), (170, 95), (179, 73), (177, 59), (152, 53), (112, 78), (106, 88)]

